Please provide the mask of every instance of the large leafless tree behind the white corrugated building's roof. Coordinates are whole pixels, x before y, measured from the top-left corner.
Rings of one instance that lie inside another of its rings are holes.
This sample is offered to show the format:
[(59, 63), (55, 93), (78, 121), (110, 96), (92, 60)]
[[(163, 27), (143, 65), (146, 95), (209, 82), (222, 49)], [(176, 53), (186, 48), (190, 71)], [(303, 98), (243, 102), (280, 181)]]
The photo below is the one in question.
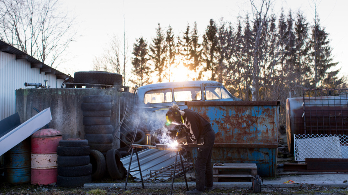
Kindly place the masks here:
[(0, 0), (0, 39), (57, 67), (77, 36), (74, 18), (59, 6), (58, 0)]

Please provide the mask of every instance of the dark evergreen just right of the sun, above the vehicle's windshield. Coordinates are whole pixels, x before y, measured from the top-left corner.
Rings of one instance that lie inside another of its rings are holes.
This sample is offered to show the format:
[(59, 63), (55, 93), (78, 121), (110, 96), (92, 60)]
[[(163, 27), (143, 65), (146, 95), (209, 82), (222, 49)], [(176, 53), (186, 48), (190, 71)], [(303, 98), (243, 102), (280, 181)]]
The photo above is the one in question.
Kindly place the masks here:
[(209, 20), (209, 25), (206, 28), (205, 34), (203, 35), (203, 52), (204, 60), (206, 63), (205, 70), (211, 72), (211, 80), (215, 80), (216, 70), (216, 52), (217, 48), (217, 27), (213, 19)]

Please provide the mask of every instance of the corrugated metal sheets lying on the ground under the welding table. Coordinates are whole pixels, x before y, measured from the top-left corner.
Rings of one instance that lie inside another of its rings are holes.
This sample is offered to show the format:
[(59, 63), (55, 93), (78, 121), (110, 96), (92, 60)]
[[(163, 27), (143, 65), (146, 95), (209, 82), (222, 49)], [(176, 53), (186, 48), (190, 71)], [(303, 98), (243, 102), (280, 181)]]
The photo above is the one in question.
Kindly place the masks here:
[[(143, 180), (150, 178), (151, 170), (160, 170), (174, 164), (175, 155), (176, 155), (176, 152), (173, 152), (173, 151), (155, 150), (155, 149), (145, 149), (138, 152)], [(121, 162), (123, 163), (123, 166), (126, 168), (127, 171), (129, 167), (129, 161), (130, 161), (130, 155), (124, 158), (121, 158)], [(177, 156), (177, 162), (180, 162), (179, 155)], [(135, 152), (132, 157), (132, 163), (130, 164), (129, 174), (135, 178), (141, 179), (140, 172), (132, 171), (132, 170), (139, 170)], [(168, 177), (156, 178), (156, 180), (168, 180), (168, 179), (169, 179)]]

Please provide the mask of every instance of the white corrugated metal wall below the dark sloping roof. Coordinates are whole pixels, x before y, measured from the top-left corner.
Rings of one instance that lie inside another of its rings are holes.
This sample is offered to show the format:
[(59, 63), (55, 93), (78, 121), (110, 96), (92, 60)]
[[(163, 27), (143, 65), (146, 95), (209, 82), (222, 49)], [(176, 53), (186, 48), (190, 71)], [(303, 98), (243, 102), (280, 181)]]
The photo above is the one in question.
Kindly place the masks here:
[(24, 86), (25, 82), (45, 85), (46, 79), (49, 80), (47, 85), (50, 87), (61, 87), (64, 79), (57, 79), (58, 71), (55, 74), (40, 73), (40, 68), (31, 68), (31, 63), (34, 61), (29, 62), (29, 58), (16, 60), (15, 54), (0, 51), (0, 120), (15, 113), (15, 91), (19, 88), (27, 88)]

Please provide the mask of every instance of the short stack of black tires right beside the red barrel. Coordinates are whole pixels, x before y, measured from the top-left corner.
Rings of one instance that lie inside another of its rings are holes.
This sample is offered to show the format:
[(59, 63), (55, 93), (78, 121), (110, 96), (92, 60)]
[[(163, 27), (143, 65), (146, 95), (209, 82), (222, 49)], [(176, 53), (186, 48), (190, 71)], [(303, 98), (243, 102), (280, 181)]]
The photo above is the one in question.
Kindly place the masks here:
[(86, 139), (61, 140), (57, 147), (57, 186), (79, 187), (92, 182), (90, 147)]

